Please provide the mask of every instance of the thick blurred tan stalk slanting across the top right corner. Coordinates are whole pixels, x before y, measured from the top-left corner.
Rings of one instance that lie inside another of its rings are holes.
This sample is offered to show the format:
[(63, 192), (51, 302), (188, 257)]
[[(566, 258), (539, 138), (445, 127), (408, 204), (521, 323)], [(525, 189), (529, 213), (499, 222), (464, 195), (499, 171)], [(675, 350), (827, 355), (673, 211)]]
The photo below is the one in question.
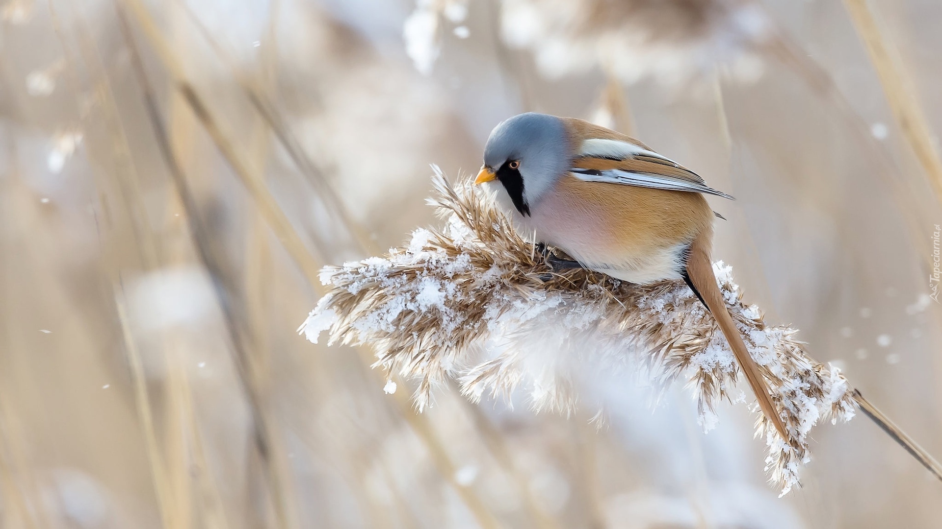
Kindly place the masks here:
[(916, 152), (919, 164), (933, 187), (935, 198), (942, 203), (942, 158), (934, 144), (932, 129), (919, 104), (913, 81), (892, 42), (881, 30), (878, 17), (870, 8), (869, 1), (844, 0), (844, 7), (847, 8), (857, 35), (867, 48), (873, 69), (880, 77), (886, 102), (892, 109), (903, 136), (913, 152)]

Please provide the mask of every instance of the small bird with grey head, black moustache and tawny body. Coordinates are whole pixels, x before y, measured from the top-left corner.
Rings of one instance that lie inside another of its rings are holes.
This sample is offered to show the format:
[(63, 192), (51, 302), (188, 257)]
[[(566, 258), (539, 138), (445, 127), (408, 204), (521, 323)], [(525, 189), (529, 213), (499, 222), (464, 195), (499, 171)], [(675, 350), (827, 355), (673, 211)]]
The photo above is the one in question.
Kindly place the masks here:
[(715, 216), (705, 195), (733, 197), (641, 141), (576, 118), (528, 112), (497, 124), (475, 184), (554, 269), (582, 267), (647, 284), (684, 280), (723, 331), (760, 409), (788, 431), (729, 311), (710, 258)]

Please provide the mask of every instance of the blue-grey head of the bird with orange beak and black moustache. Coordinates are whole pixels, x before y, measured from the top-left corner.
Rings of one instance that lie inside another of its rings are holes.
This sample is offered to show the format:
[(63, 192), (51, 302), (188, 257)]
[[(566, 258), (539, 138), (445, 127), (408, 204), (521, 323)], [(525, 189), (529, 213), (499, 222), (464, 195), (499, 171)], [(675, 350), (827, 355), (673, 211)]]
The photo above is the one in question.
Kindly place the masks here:
[(484, 146), (484, 167), (475, 184), (497, 180), (521, 215), (570, 168), (572, 148), (556, 116), (528, 112), (498, 124)]

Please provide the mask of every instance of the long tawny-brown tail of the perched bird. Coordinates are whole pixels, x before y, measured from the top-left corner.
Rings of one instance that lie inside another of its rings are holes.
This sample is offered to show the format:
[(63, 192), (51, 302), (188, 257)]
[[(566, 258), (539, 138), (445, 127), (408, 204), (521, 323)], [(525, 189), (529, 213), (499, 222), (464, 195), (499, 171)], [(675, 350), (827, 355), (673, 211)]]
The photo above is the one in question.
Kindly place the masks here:
[(700, 297), (709, 312), (713, 314), (716, 322), (720, 324), (723, 336), (726, 337), (726, 341), (729, 342), (729, 346), (736, 356), (736, 361), (739, 362), (739, 369), (742, 370), (746, 380), (749, 381), (749, 386), (752, 387), (753, 393), (755, 393), (759, 408), (762, 409), (771, 424), (775, 426), (782, 439), (790, 442), (788, 431), (785, 429), (785, 425), (782, 424), (782, 419), (771, 401), (771, 396), (769, 396), (769, 386), (766, 384), (765, 378), (759, 373), (758, 365), (753, 357), (749, 356), (749, 350), (746, 349), (746, 344), (742, 341), (742, 336), (739, 335), (739, 329), (736, 328), (733, 317), (726, 310), (726, 302), (723, 300), (720, 287), (717, 286), (716, 276), (713, 275), (713, 264), (710, 262), (708, 246), (705, 247), (703, 240), (698, 238), (690, 246), (687, 260), (687, 278), (685, 279), (688, 280), (694, 294)]

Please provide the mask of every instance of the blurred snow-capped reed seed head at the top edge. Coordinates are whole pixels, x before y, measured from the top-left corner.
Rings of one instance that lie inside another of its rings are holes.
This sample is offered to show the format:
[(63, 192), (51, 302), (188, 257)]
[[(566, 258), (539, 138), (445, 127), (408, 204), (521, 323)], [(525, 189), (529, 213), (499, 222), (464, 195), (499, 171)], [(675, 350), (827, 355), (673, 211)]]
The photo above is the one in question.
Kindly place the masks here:
[(534, 52), (549, 76), (601, 67), (627, 83), (686, 83), (726, 65), (761, 74), (755, 55), (770, 23), (745, 0), (503, 0), (502, 35)]

